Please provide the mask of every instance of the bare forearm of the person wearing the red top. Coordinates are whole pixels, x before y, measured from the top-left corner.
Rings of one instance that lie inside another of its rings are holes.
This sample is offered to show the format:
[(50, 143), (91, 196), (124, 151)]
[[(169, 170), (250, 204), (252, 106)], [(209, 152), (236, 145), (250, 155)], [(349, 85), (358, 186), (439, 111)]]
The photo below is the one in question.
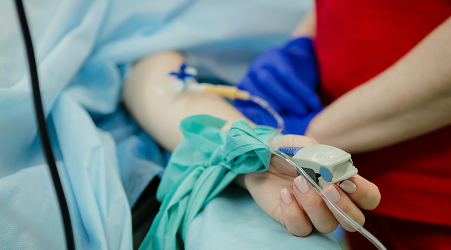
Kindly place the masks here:
[(451, 17), (395, 64), (332, 102), (306, 135), (362, 152), (451, 124), (450, 41)]

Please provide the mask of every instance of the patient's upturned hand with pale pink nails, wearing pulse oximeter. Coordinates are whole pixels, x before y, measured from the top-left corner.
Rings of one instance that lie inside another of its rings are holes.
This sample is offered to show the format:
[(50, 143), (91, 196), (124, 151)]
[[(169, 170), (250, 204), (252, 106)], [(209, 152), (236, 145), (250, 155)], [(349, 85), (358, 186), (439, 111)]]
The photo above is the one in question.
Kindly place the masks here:
[[(274, 146), (308, 146), (318, 144), (310, 137), (283, 135)], [(297, 236), (307, 236), (313, 227), (323, 233), (334, 231), (338, 223), (348, 231), (354, 229), (341, 222), (327, 207), (319, 194), (284, 159), (273, 155), (265, 172), (244, 175), (244, 184), (257, 204), (274, 219)], [(323, 188), (328, 197), (357, 223), (363, 225), (365, 217), (360, 209), (374, 209), (380, 201), (377, 186), (356, 174), (339, 184)]]

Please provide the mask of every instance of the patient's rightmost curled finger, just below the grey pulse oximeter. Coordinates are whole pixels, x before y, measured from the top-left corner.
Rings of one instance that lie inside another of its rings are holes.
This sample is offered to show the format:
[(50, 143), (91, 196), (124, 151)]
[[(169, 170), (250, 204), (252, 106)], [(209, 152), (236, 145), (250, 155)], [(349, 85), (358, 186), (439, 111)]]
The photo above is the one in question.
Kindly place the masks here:
[(379, 205), (379, 188), (358, 174), (341, 181), (338, 185), (354, 203), (363, 209), (371, 210)]

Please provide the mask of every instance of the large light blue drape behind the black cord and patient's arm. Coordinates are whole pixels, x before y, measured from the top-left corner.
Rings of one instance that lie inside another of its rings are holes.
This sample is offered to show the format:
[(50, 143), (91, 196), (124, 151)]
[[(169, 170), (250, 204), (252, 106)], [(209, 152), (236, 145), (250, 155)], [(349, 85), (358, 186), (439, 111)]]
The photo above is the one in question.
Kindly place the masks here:
[[(167, 161), (119, 108), (130, 64), (178, 49), (200, 76), (236, 82), (252, 57), (286, 39), (309, 4), (25, 2), (78, 249), (131, 249), (130, 206)], [(15, 13), (12, 0), (0, 1), (0, 249), (62, 249), (59, 208), (37, 138)]]

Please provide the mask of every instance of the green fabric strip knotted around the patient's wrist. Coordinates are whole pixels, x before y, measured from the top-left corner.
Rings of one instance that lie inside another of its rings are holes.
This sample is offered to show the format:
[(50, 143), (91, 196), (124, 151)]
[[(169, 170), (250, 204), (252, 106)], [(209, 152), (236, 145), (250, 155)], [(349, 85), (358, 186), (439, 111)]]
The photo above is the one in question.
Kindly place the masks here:
[(221, 131), (225, 121), (195, 115), (180, 123), (184, 139), (173, 151), (157, 190), (162, 200), (139, 250), (179, 249), (197, 213), (241, 173), (268, 169), (267, 145), (274, 128), (251, 127), (245, 119)]

